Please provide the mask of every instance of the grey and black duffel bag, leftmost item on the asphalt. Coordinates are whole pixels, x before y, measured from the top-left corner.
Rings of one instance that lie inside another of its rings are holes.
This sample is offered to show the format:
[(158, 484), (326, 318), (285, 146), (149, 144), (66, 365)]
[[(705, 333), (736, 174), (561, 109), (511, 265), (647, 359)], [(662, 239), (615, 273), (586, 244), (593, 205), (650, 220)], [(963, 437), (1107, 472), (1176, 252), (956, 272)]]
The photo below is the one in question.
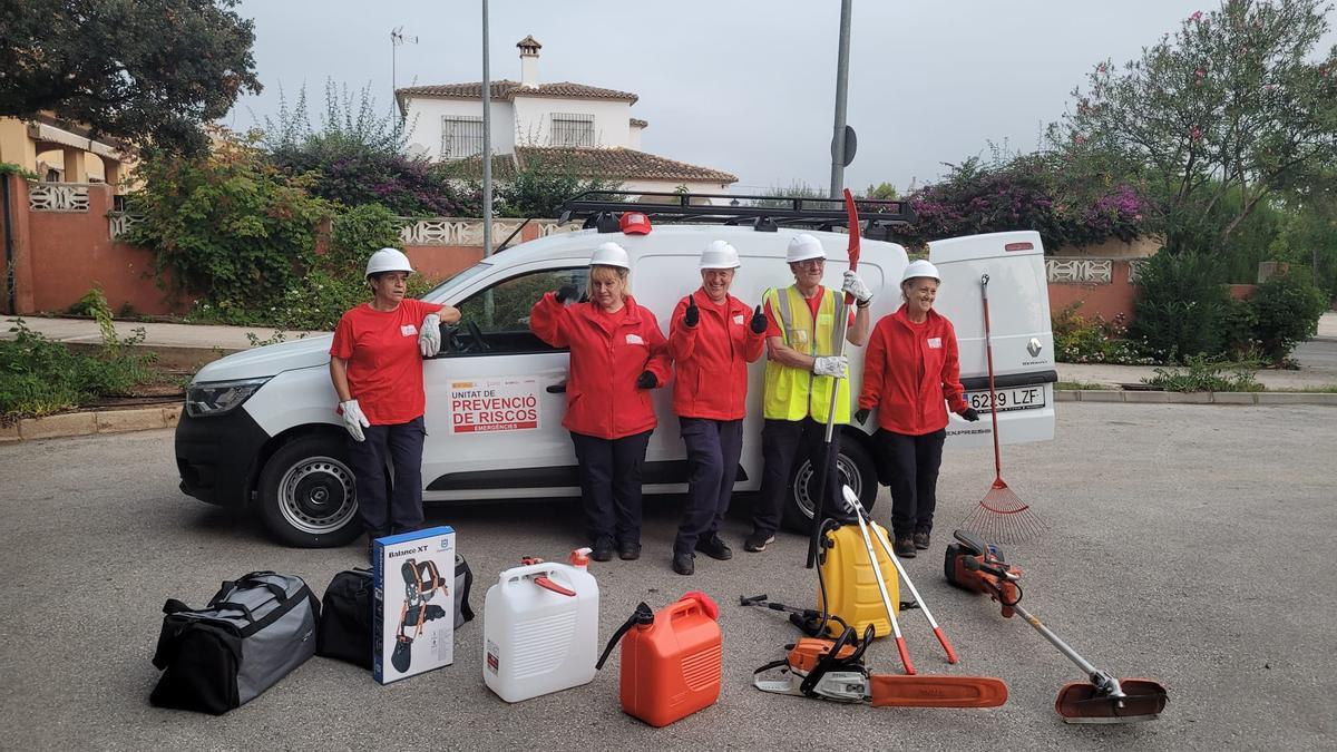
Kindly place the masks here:
[(316, 652), (320, 602), (302, 578), (253, 571), (203, 609), (170, 599), (148, 701), (222, 715), (255, 698)]

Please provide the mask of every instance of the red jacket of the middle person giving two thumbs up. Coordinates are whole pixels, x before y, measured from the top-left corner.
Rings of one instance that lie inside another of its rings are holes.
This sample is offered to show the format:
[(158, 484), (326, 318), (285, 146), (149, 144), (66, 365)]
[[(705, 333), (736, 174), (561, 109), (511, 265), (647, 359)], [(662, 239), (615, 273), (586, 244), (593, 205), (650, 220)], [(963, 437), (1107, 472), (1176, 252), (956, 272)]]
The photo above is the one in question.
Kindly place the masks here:
[(751, 331), (751, 309), (734, 296), (715, 305), (703, 290), (697, 326), (683, 324), (687, 298), (668, 320), (674, 361), (673, 408), (682, 417), (739, 420), (747, 412), (747, 364), (761, 357), (766, 335)]

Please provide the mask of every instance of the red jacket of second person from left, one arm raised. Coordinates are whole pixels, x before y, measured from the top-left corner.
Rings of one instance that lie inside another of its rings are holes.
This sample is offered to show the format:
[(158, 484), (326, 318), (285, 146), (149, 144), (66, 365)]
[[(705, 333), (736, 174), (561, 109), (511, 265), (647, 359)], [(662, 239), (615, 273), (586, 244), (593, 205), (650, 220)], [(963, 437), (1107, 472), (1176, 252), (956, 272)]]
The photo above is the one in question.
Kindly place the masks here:
[(568, 431), (598, 439), (620, 439), (655, 427), (650, 389), (636, 377), (650, 371), (668, 383), (668, 341), (655, 314), (627, 296), (624, 310), (604, 313), (594, 302), (562, 305), (545, 293), (529, 312), (529, 329), (555, 348), (571, 348), (567, 376)]

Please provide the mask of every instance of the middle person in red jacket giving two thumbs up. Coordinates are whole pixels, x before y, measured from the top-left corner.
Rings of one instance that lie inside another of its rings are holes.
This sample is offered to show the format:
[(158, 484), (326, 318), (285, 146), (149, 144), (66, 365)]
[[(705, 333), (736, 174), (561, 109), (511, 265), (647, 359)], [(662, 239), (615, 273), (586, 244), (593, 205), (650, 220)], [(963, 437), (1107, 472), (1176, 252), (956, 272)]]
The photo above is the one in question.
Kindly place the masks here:
[(673, 545), (673, 570), (691, 574), (695, 554), (726, 561), (719, 538), (743, 447), (747, 364), (766, 344), (766, 314), (729, 294), (738, 252), (714, 241), (701, 253), (701, 288), (682, 298), (670, 318), (668, 351), (675, 380), (673, 405), (687, 446), (687, 504)]

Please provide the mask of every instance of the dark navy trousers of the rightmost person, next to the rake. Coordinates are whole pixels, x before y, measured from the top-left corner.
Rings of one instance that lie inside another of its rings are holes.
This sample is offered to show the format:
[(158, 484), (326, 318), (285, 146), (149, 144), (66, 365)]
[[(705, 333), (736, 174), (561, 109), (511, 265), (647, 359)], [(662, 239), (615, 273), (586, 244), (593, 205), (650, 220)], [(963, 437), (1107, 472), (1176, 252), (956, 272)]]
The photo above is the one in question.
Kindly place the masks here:
[(877, 459), (892, 487), (892, 531), (897, 538), (933, 530), (937, 470), (943, 464), (947, 430), (909, 436), (878, 430)]

